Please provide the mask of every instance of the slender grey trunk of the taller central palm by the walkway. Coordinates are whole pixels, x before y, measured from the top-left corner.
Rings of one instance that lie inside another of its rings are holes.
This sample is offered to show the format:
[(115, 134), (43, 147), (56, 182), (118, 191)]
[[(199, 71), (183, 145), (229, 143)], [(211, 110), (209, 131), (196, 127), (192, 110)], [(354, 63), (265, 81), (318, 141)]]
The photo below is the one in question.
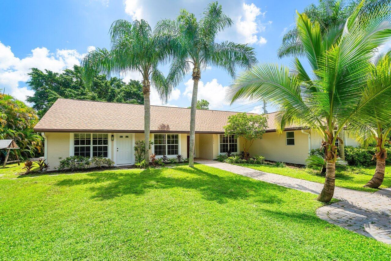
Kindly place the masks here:
[(197, 67), (193, 68), (193, 95), (190, 109), (190, 141), (189, 141), (189, 167), (194, 166), (194, 141), (195, 141), (195, 109), (197, 108), (198, 81), (201, 78), (201, 72)]

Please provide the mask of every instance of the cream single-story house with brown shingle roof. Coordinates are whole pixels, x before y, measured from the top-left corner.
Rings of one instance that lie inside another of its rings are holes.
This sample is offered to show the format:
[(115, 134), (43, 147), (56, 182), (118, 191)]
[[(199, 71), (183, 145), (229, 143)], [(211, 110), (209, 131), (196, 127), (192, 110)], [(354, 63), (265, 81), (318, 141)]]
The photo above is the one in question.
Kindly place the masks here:
[[(195, 150), (197, 158), (215, 159), (228, 150), (239, 153), (242, 138), (225, 137), (223, 126), (228, 116), (237, 112), (197, 110)], [(267, 160), (304, 164), (310, 149), (319, 148), (321, 136), (300, 126), (276, 133), (274, 117), (268, 113), (268, 125), (263, 139), (256, 140), (249, 152)], [(45, 138), (45, 158), (53, 170), (59, 157), (72, 155), (111, 158), (116, 166), (135, 163), (134, 144), (144, 139), (144, 106), (128, 103), (108, 103), (58, 99), (34, 127)], [(189, 156), (190, 109), (151, 106), (150, 153), (158, 157)], [(346, 131), (345, 131), (346, 133)], [(344, 137), (346, 145), (357, 142)]]

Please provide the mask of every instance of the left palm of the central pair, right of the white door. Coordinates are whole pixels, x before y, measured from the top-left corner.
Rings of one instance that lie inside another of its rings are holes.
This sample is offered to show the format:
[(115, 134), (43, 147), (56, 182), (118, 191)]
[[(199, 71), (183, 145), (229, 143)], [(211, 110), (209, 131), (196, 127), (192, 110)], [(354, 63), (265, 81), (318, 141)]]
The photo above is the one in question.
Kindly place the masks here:
[(139, 72), (144, 95), (145, 162), (149, 162), (149, 132), (151, 85), (156, 88), (163, 102), (167, 101), (172, 88), (167, 84), (158, 65), (170, 56), (170, 40), (167, 36), (153, 34), (145, 20), (130, 23), (117, 20), (111, 25), (111, 50), (97, 49), (89, 52), (82, 61), (83, 79), (90, 86), (98, 71), (111, 73)]

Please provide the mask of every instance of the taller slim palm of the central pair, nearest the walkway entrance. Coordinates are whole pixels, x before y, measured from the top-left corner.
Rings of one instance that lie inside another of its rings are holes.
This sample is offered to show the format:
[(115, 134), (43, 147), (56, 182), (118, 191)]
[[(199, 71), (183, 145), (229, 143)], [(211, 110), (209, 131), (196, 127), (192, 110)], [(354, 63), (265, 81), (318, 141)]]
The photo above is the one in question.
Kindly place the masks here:
[[(192, 72), (193, 93), (190, 112), (190, 145), (189, 166), (194, 165), (195, 109), (197, 106), (198, 82), (201, 72), (210, 65), (226, 70), (231, 77), (235, 76), (236, 66), (250, 68), (256, 63), (253, 47), (233, 42), (215, 43), (218, 32), (232, 25), (217, 2), (208, 4), (197, 21), (194, 14), (181, 9), (176, 21), (161, 20), (156, 25), (156, 33), (170, 35), (176, 39), (172, 49), (174, 60), (170, 67), (168, 81), (178, 85), (183, 77)], [(191, 68), (192, 67), (192, 68)]]

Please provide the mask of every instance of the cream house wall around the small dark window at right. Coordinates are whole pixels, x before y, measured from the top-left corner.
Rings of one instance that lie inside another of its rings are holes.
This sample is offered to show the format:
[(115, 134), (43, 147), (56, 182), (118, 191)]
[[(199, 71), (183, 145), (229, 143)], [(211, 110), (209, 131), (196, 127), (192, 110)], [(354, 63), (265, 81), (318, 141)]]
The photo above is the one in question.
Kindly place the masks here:
[(282, 134), (267, 132), (262, 139), (254, 141), (250, 155), (261, 155), (266, 160), (305, 164), (308, 157), (308, 135), (294, 131), (294, 145), (286, 145), (286, 131)]

